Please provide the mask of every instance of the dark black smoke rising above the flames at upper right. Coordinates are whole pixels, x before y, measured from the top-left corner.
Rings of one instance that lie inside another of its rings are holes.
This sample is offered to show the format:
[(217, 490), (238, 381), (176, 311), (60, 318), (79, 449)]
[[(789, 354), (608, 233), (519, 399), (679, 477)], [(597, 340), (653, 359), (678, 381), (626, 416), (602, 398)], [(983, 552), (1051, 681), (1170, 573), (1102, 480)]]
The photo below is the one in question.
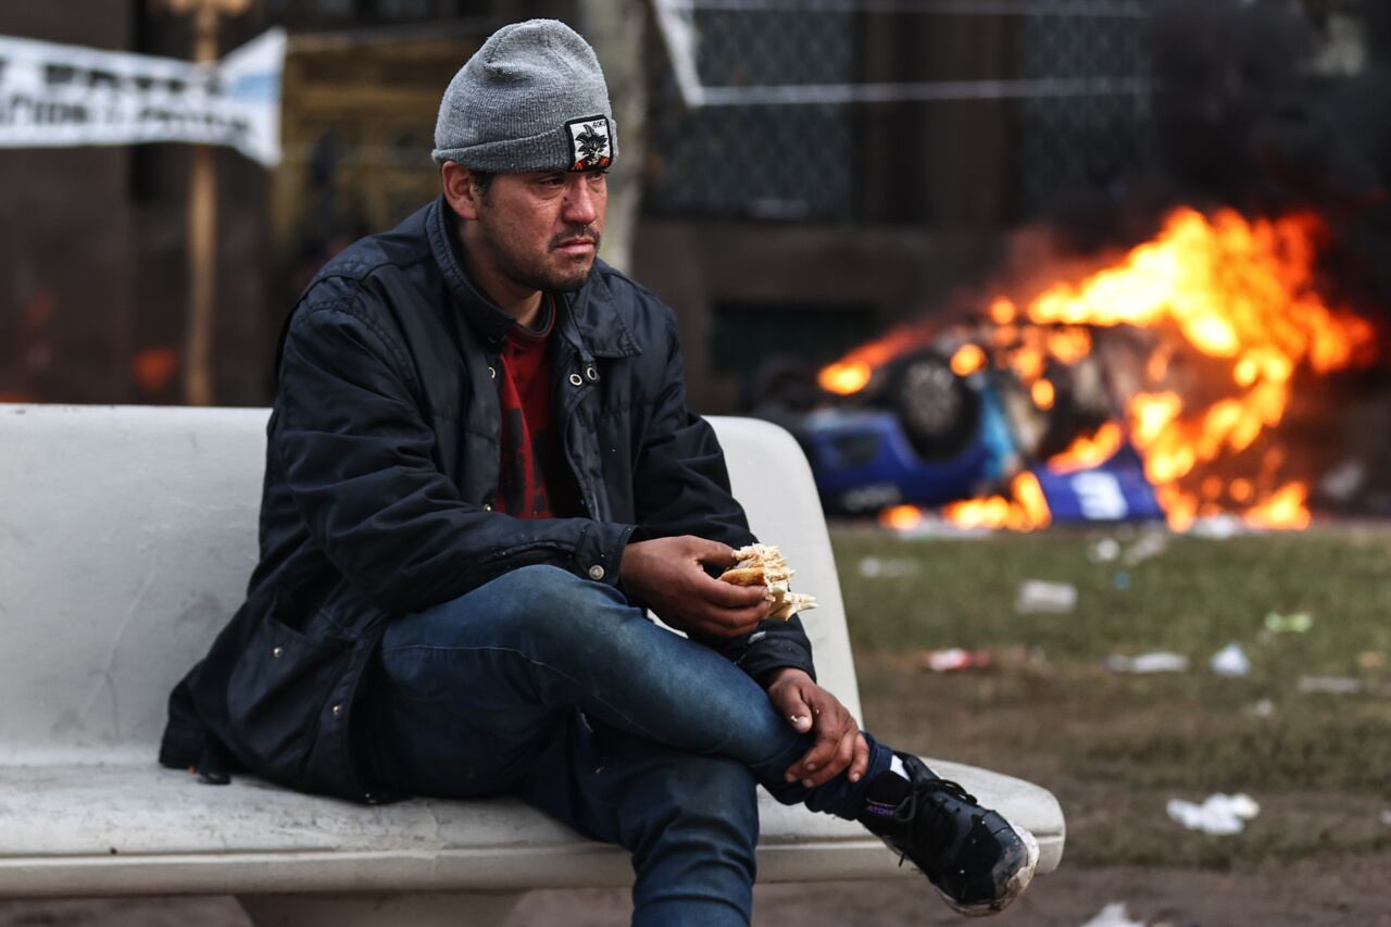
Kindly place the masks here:
[(1312, 210), (1326, 295), (1391, 330), (1391, 3), (1166, 0), (1145, 45), (1153, 157), (1120, 196), (1059, 196), (1054, 246), (1135, 244), (1178, 205)]

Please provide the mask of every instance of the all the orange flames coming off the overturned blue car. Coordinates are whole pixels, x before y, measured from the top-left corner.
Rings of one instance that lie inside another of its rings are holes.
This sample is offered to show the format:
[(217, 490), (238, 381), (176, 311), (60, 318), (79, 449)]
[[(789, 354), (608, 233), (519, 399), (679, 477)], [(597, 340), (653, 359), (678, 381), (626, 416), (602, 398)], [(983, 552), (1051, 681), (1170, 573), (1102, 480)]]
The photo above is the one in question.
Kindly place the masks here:
[[(1271, 433), (1301, 370), (1327, 374), (1370, 363), (1376, 331), (1317, 292), (1314, 258), (1324, 230), (1309, 214), (1248, 220), (1232, 210), (1177, 209), (1150, 241), (1079, 281), (1057, 281), (1028, 302), (997, 296), (951, 359), (963, 376), (1008, 367), (1038, 409), (1057, 399), (1054, 366), (1095, 348), (1096, 330), (1132, 326), (1152, 338), (1141, 379), (1116, 397), (1118, 422), (1078, 438), (1047, 462), (1057, 472), (1095, 466), (1128, 437), (1175, 529), (1205, 514), (1244, 512), (1260, 528), (1309, 523), (1308, 484), (1291, 480)], [(922, 345), (926, 326), (899, 328), (821, 373), (825, 388), (854, 393), (874, 369)], [(1038, 483), (1032, 484), (1035, 489)], [(1022, 489), (1021, 489), (1022, 487)], [(1036, 528), (1025, 496), (947, 507), (967, 526)], [(1042, 493), (1039, 493), (1042, 502)]]

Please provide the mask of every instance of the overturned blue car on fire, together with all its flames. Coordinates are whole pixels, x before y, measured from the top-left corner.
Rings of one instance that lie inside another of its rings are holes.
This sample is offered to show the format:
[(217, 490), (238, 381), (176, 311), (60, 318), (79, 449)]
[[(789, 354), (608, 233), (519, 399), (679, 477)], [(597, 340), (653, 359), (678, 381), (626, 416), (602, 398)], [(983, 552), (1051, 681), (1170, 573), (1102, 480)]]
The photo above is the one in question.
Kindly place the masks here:
[(1376, 330), (1319, 292), (1319, 221), (1180, 209), (1077, 281), (897, 328), (765, 380), (837, 512), (944, 505), (957, 523), (1239, 514), (1308, 523), (1280, 423), (1296, 376), (1376, 359)]

